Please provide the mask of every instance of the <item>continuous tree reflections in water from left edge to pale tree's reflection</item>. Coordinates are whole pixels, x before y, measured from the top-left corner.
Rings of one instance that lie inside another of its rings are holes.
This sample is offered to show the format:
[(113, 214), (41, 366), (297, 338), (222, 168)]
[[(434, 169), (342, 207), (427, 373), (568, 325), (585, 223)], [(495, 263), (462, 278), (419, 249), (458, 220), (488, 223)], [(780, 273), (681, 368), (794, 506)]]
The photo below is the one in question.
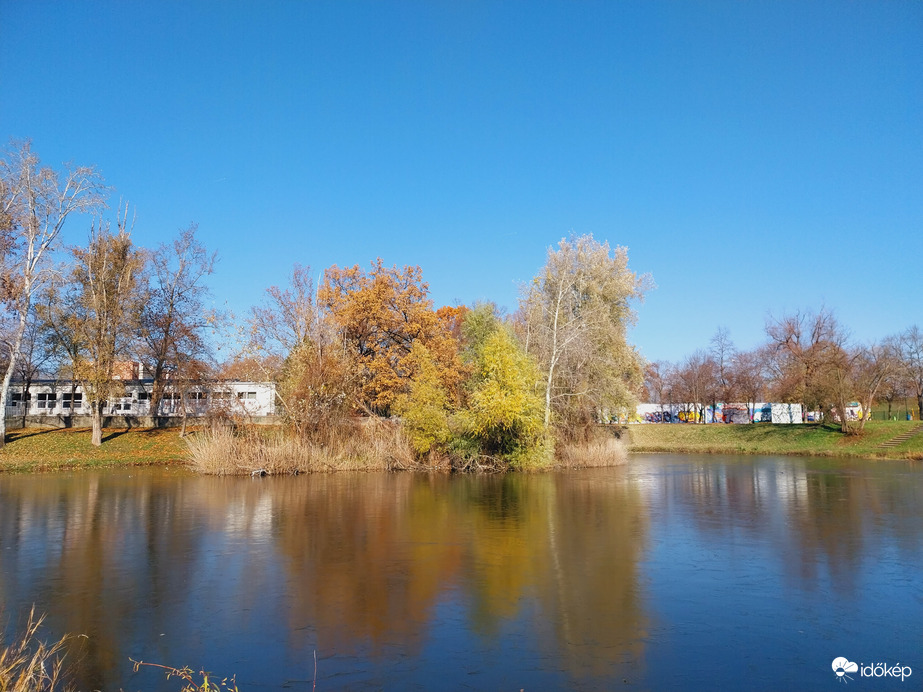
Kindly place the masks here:
[(0, 599), (87, 635), (80, 689), (124, 685), (129, 656), (207, 665), (203, 621), (259, 631), (239, 618), (267, 609), (290, 651), (410, 656), (447, 601), (488, 642), (534, 618), (549, 656), (596, 675), (641, 654), (645, 534), (611, 471), (0, 477)]

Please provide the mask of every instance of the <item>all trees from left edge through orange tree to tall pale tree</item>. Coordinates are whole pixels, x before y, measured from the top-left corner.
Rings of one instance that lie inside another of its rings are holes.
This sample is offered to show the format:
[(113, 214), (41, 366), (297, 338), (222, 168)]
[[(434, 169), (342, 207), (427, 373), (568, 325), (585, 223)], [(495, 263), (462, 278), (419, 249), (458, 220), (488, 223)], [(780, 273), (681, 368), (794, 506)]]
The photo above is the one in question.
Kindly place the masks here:
[[(195, 225), (140, 248), (127, 205), (105, 220), (108, 192), (93, 168), (42, 166), (29, 142), (0, 159), (0, 397), (14, 375), (28, 384), (53, 370), (80, 384), (94, 444), (128, 359), (153, 376), (152, 412), (168, 382), (269, 379), (293, 434), (320, 440), (356, 417), (398, 418), (421, 458), (520, 467), (592, 435), (599, 410), (640, 391), (626, 329), (649, 278), (628, 268), (625, 248), (562, 240), (511, 315), (490, 303), (436, 309), (419, 267), (379, 259), (329, 267), (316, 287), (296, 264), (287, 286), (234, 320), (207, 308), (216, 255)], [(62, 247), (71, 215), (94, 219), (85, 246)], [(219, 361), (216, 340), (232, 355)]]

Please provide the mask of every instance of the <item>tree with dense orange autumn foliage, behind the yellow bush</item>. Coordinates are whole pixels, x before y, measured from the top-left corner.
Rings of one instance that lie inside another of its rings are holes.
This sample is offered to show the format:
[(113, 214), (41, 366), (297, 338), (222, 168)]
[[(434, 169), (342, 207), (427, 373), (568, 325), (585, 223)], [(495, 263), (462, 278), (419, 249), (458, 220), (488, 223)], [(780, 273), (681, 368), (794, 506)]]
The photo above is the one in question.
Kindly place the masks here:
[(353, 349), (362, 375), (360, 405), (389, 414), (395, 398), (408, 387), (409, 360), (415, 343), (426, 347), (436, 363), (441, 385), (457, 401), (462, 381), (457, 314), (433, 310), (429, 285), (419, 267), (385, 267), (379, 258), (366, 272), (358, 265), (324, 272), (317, 304), (326, 310)]

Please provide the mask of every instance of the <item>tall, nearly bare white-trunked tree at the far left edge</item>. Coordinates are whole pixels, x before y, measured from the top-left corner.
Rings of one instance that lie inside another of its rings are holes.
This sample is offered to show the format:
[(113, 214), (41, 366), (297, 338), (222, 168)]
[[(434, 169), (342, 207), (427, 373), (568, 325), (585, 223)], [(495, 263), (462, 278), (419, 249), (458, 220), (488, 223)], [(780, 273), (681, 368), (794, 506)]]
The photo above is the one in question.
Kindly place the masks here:
[[(0, 251), (2, 299), (17, 321), (8, 344), (0, 401), (6, 402), (29, 321), (32, 300), (48, 275), (50, 254), (71, 214), (92, 212), (104, 203), (102, 178), (93, 168), (68, 166), (62, 173), (41, 166), (30, 142), (0, 159)], [(6, 417), (0, 416), (0, 447)]]

